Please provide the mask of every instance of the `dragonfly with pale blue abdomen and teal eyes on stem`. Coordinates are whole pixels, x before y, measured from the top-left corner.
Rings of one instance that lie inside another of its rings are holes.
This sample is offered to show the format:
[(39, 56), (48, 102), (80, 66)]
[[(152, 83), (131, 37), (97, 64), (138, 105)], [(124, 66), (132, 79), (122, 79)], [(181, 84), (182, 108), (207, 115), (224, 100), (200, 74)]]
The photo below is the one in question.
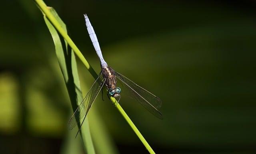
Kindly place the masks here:
[(117, 102), (120, 101), (121, 98), (121, 91), (127, 95), (130, 95), (132, 98), (135, 98), (144, 108), (146, 108), (150, 113), (152, 113), (157, 118), (163, 119), (162, 114), (158, 109), (161, 107), (162, 102), (161, 100), (147, 91), (146, 89), (140, 87), (124, 75), (114, 71), (112, 67), (109, 67), (106, 61), (102, 56), (102, 52), (100, 49), (100, 45), (97, 39), (97, 36), (94, 32), (92, 24), (86, 14), (84, 14), (86, 27), (96, 50), (96, 53), (100, 59), (100, 65), (102, 70), (100, 71), (98, 78), (94, 81), (92, 86), (90, 87), (88, 93), (84, 97), (83, 101), (80, 103), (72, 117), (68, 122), (69, 129), (73, 129), (78, 123), (80, 122), (80, 127), (78, 132), (84, 122), (84, 119), (92, 107), (96, 97), (98, 96), (99, 92), (102, 90), (102, 87), (105, 85), (106, 89), (108, 90), (108, 96), (114, 97), (118, 99)]

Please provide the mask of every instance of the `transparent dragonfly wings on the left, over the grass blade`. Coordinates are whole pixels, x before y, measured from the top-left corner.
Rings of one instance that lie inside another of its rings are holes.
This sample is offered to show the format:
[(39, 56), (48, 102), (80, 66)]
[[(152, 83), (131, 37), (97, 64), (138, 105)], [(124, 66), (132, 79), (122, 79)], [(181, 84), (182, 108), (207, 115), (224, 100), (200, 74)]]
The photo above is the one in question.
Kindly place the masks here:
[(86, 97), (84, 97), (84, 100), (80, 103), (74, 114), (71, 116), (68, 122), (68, 128), (70, 130), (77, 125), (77, 122), (81, 122), (81, 120), (87, 115), (104, 83), (105, 78), (102, 77), (102, 72), (100, 72), (99, 77), (92, 84), (92, 87), (89, 89)]

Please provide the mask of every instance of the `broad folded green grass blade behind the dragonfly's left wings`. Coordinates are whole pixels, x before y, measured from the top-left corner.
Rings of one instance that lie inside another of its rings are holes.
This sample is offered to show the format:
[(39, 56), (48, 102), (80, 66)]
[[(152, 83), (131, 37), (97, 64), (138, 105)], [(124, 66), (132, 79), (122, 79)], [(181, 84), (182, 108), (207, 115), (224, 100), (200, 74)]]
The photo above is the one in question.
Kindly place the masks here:
[[(48, 7), (50, 12), (56, 18), (61, 27), (67, 32), (66, 25), (59, 18), (58, 14), (55, 12), (53, 8)], [(70, 101), (72, 104), (73, 111), (76, 110), (78, 104), (82, 101), (82, 91), (80, 88), (80, 81), (78, 77), (76, 58), (72, 49), (68, 46), (68, 43), (58, 35), (58, 32), (54, 28), (54, 26), (50, 23), (50, 21), (44, 15), (44, 21), (52, 35), (56, 56), (58, 58), (58, 62), (60, 64), (60, 69), (62, 71), (66, 87), (68, 89), (68, 94), (70, 97)], [(92, 143), (92, 138), (90, 135), (90, 129), (88, 125), (88, 120), (84, 121), (84, 124), (80, 131), (82, 141), (84, 143), (84, 148), (87, 153), (95, 154), (94, 146)]]

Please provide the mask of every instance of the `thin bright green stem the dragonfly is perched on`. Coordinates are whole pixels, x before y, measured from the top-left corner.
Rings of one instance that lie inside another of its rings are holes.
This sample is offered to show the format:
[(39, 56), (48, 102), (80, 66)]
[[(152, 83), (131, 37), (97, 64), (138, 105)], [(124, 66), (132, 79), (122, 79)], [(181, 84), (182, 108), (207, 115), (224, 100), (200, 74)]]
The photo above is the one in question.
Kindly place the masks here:
[[(52, 13), (48, 10), (48, 6), (43, 2), (43, 0), (35, 0), (35, 2), (38, 4), (38, 6), (42, 9), (44, 14), (46, 14), (46, 17), (52, 22), (54, 27), (58, 30), (58, 32), (62, 35), (62, 37), (68, 42), (68, 45), (73, 49), (74, 53), (78, 56), (78, 58), (84, 63), (85, 67), (88, 69), (88, 71), (91, 73), (91, 75), (97, 79), (98, 74), (94, 71), (94, 69), (91, 67), (91, 65), (88, 63), (88, 61), (85, 59), (85, 57), (82, 55), (81, 51), (78, 49), (78, 47), (75, 45), (75, 43), (72, 41), (72, 39), (68, 36), (68, 34), (65, 32), (65, 30), (60, 26), (58, 21), (54, 18)], [(110, 100), (112, 103), (116, 106), (118, 111), (121, 113), (121, 115), (125, 118), (125, 120), (128, 122), (128, 124), (131, 126), (131, 128), (134, 130), (138, 138), (140, 138), (141, 142), (144, 144), (148, 152), (150, 154), (155, 154), (154, 150), (150, 147), (148, 142), (145, 140), (145, 138), (142, 136), (138, 128), (134, 125), (132, 120), (129, 118), (129, 116), (125, 113), (125, 111), (122, 109), (119, 103), (117, 103), (116, 99), (114, 97), (111, 97)]]

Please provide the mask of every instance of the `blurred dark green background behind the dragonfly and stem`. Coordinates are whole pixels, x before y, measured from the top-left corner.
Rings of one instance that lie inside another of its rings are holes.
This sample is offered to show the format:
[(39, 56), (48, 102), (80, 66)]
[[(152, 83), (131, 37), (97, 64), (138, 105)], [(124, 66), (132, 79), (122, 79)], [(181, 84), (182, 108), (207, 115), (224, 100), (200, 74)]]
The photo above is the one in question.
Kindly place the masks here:
[[(164, 120), (121, 100), (156, 153), (256, 153), (255, 1), (45, 3), (97, 72), (84, 13), (108, 64), (160, 97)], [(40, 10), (32, 0), (4, 0), (0, 14), (0, 153), (83, 153), (67, 129), (71, 105)], [(85, 95), (93, 78), (77, 60)], [(147, 153), (106, 97), (88, 116), (97, 153)]]

